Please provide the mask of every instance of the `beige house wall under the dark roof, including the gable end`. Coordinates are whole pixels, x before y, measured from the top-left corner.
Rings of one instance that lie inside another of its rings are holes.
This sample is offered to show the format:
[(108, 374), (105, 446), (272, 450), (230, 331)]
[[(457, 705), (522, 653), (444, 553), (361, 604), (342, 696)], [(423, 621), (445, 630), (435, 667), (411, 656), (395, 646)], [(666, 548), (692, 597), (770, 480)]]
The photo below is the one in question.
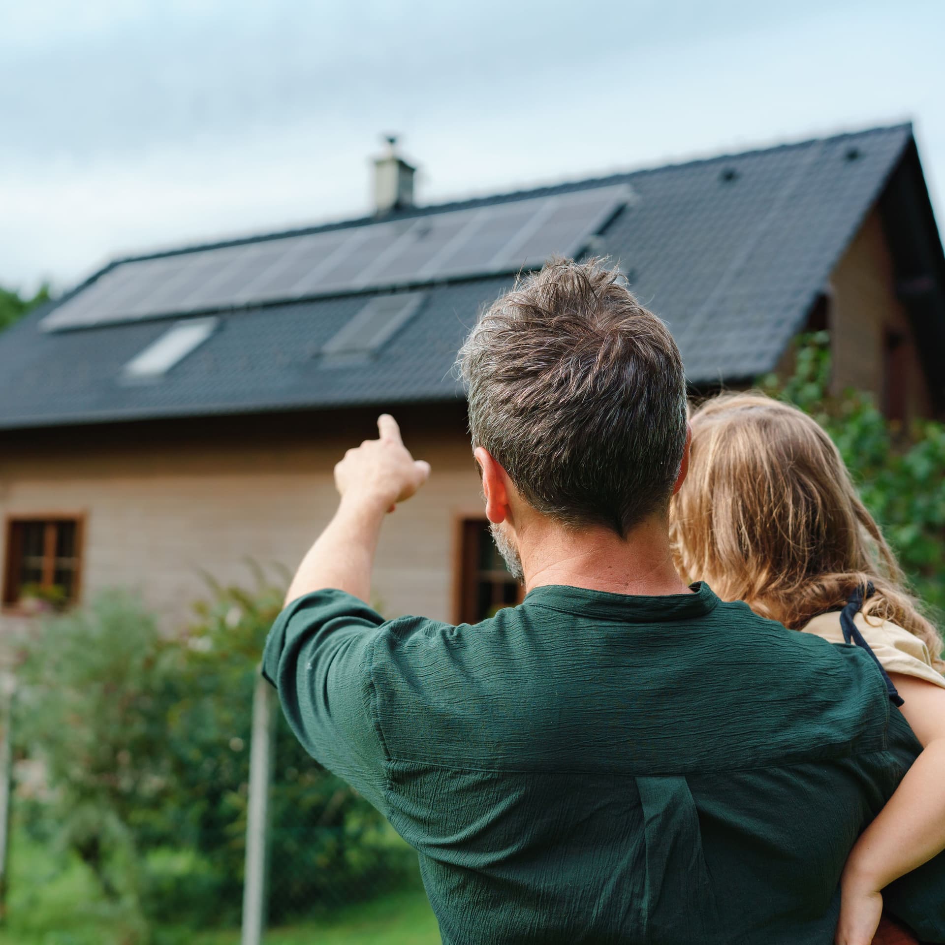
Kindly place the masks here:
[[(930, 402), (908, 319), (896, 299), (879, 216), (868, 216), (833, 271), (837, 389), (883, 390), (887, 328), (906, 335), (910, 412)], [(789, 369), (787, 360), (782, 369)], [(375, 601), (387, 616), (453, 621), (458, 522), (481, 515), (462, 404), (396, 411), (433, 475), (390, 516), (378, 549)], [(335, 508), (332, 469), (375, 434), (375, 411), (205, 419), (0, 435), (0, 521), (84, 517), (83, 598), (138, 588), (164, 625), (188, 619), (203, 574), (247, 585), (247, 558), (292, 570)], [(0, 574), (5, 546), (0, 542)], [(22, 619), (0, 613), (0, 631)]]

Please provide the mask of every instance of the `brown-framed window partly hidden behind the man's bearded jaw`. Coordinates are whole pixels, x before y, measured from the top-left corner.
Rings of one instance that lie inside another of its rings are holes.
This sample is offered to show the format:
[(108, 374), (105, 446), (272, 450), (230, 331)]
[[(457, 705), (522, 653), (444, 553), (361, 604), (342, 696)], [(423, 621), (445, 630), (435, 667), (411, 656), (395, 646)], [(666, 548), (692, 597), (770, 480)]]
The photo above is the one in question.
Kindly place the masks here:
[(522, 588), (508, 573), (485, 519), (464, 519), (459, 553), (459, 623), (478, 624), (496, 610), (522, 602)]

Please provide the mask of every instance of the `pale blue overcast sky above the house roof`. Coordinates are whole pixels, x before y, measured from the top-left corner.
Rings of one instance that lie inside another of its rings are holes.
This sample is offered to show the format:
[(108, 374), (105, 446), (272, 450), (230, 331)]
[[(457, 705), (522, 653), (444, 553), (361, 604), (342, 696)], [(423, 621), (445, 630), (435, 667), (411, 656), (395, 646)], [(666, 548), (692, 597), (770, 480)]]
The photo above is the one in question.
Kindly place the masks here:
[(0, 0), (0, 283), (912, 119), (945, 218), (941, 0)]

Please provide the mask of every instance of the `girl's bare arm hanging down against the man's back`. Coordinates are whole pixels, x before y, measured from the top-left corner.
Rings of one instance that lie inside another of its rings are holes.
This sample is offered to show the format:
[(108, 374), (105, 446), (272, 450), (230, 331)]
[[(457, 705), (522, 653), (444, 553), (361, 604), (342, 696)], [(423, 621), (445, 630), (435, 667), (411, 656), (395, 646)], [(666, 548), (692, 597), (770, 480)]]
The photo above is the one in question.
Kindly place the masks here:
[(945, 850), (945, 689), (901, 673), (890, 676), (922, 752), (851, 851), (836, 945), (869, 945), (884, 887)]

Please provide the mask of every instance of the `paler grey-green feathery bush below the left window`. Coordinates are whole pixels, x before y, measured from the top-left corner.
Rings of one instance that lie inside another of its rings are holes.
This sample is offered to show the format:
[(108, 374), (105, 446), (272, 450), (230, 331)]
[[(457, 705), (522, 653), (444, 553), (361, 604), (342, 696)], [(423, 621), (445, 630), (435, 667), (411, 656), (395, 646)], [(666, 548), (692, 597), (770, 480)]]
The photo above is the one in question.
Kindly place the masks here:
[(42, 758), (50, 796), (28, 805), (34, 837), (92, 870), (103, 897), (144, 940), (138, 838), (171, 765), (161, 740), (174, 698), (166, 646), (138, 600), (104, 593), (43, 621), (26, 644), (14, 732)]

